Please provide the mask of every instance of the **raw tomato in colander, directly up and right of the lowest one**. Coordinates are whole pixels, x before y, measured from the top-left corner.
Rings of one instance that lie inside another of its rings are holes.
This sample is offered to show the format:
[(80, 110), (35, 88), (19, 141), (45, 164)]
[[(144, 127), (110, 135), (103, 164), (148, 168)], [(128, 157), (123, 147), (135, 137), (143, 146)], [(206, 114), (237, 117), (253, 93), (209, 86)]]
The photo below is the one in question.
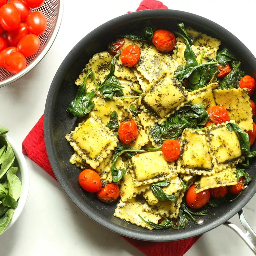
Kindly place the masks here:
[(35, 54), (40, 48), (40, 39), (37, 35), (29, 34), (22, 38), (18, 45), (18, 52), (22, 53), (25, 57), (30, 57)]

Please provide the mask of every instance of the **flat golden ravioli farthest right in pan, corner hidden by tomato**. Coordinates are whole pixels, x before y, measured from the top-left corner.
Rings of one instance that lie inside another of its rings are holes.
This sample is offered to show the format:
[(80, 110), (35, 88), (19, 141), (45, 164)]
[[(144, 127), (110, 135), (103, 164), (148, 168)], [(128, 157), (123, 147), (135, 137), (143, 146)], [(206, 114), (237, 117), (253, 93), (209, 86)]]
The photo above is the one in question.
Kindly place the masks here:
[(217, 105), (226, 108), (230, 120), (235, 120), (242, 130), (253, 130), (250, 96), (241, 88), (214, 90)]

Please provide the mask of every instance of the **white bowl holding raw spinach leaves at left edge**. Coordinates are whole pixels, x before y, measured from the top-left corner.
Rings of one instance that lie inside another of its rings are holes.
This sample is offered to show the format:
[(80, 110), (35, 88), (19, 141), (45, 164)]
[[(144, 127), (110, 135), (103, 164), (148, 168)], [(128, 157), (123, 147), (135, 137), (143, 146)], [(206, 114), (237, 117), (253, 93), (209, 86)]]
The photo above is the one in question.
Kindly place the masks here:
[(20, 194), (20, 198), (18, 200), (18, 205), (14, 210), (14, 214), (13, 214), (11, 221), (9, 222), (8, 226), (4, 230), (4, 231), (6, 231), (18, 219), (18, 217), (21, 214), (21, 212), (25, 206), (25, 203), (27, 201), (28, 190), (29, 190), (29, 173), (28, 173), (28, 166), (27, 166), (25, 157), (22, 154), (22, 152), (19, 150), (17, 145), (7, 134), (4, 134), (3, 137), (5, 137), (5, 139), (9, 142), (9, 144), (11, 145), (11, 147), (13, 149), (13, 152), (15, 155), (15, 161), (18, 163), (18, 168), (19, 168), (17, 171), (17, 176), (19, 177), (19, 179), (22, 183), (22, 191)]

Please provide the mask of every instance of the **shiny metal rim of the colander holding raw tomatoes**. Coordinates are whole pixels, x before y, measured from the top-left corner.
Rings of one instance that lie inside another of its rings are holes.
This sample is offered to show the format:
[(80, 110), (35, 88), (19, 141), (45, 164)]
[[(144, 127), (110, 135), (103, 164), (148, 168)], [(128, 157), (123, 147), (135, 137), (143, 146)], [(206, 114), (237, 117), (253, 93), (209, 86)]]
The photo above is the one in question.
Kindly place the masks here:
[(55, 27), (53, 29), (51, 36), (49, 37), (48, 42), (44, 46), (41, 53), (25, 69), (21, 70), (20, 72), (18, 72), (15, 75), (9, 77), (8, 79), (5, 79), (4, 81), (0, 82), (0, 88), (17, 81), (18, 79), (20, 79), (21, 77), (26, 75), (30, 70), (32, 70), (35, 66), (38, 65), (38, 63), (44, 58), (46, 53), (52, 47), (53, 42), (55, 41), (56, 36), (59, 32), (59, 28), (60, 28), (60, 24), (61, 24), (61, 20), (62, 20), (62, 16), (63, 16), (63, 10), (64, 10), (64, 0), (58, 0), (58, 2), (59, 2), (59, 4), (58, 4), (58, 11), (57, 11)]

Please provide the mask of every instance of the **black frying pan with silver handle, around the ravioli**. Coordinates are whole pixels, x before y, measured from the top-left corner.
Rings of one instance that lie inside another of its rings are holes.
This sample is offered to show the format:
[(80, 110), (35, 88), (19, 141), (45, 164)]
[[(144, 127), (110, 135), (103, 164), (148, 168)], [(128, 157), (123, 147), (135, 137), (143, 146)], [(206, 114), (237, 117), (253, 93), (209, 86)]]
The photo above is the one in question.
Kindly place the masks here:
[[(233, 34), (209, 19), (187, 12), (162, 9), (133, 12), (112, 19), (90, 32), (75, 45), (61, 63), (49, 89), (45, 105), (44, 136), (47, 154), (54, 174), (69, 198), (87, 216), (100, 225), (130, 238), (148, 241), (181, 240), (197, 236), (224, 223), (236, 229), (236, 232), (239, 233), (238, 228), (227, 221), (238, 213), (256, 192), (255, 160), (251, 161), (248, 169), (248, 173), (254, 179), (237, 200), (212, 209), (211, 212), (216, 214), (205, 216), (202, 224), (195, 225), (190, 222), (185, 229), (179, 231), (171, 228), (168, 230), (146, 230), (116, 218), (113, 213), (117, 203), (104, 204), (100, 202), (95, 195), (86, 193), (81, 189), (77, 182), (81, 170), (69, 163), (73, 148), (65, 139), (66, 133), (69, 133), (76, 126), (76, 118), (66, 112), (70, 101), (77, 92), (74, 81), (89, 58), (95, 53), (106, 50), (106, 45), (114, 40), (117, 34), (127, 31), (133, 22), (145, 22), (147, 20), (150, 20), (158, 28), (170, 31), (173, 31), (174, 27), (176, 29), (176, 23), (184, 22), (185, 25), (220, 39), (222, 45), (229, 47), (236, 54), (247, 74), (256, 78), (256, 59), (253, 54)], [(240, 218), (248, 230), (250, 227), (246, 226), (242, 212), (240, 212)], [(254, 247), (252, 250), (256, 252), (256, 235), (252, 230), (249, 230), (249, 235), (249, 237), (244, 235), (243, 239), (247, 240), (247, 244), (251, 243), (249, 246)], [(240, 233), (240, 236), (242, 236), (242, 233)]]

